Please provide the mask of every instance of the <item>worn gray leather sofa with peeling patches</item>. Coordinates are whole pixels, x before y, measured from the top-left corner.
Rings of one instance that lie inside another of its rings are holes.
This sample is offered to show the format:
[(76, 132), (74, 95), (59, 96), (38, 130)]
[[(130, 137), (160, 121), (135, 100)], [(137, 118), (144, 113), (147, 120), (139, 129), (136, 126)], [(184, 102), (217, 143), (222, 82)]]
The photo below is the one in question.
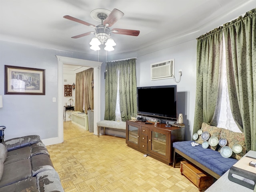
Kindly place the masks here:
[(0, 143), (0, 192), (64, 192), (38, 135)]

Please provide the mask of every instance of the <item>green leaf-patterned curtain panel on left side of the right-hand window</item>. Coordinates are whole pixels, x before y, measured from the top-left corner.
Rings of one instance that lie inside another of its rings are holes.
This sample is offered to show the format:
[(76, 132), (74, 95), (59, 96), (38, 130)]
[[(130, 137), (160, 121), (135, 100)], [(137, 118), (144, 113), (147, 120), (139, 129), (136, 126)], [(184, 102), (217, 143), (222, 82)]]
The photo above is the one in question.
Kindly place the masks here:
[(223, 28), (219, 27), (197, 38), (194, 133), (201, 128), (202, 122), (215, 126), (217, 123), (222, 34)]

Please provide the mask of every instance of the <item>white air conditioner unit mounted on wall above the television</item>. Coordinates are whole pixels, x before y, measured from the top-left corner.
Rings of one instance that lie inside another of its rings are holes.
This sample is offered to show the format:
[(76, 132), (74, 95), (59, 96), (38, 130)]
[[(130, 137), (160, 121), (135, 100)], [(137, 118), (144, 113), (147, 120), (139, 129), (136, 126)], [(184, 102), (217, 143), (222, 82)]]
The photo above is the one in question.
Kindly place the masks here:
[(173, 78), (174, 59), (150, 64), (151, 80)]

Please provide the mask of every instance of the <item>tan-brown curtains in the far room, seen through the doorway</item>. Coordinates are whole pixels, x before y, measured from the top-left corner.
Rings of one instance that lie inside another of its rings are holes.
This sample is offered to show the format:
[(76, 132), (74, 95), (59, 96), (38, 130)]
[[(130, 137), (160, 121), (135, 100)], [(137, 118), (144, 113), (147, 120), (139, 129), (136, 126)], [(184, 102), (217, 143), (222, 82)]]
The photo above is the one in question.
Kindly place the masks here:
[(88, 109), (93, 109), (93, 68), (76, 74), (76, 111), (87, 113)]

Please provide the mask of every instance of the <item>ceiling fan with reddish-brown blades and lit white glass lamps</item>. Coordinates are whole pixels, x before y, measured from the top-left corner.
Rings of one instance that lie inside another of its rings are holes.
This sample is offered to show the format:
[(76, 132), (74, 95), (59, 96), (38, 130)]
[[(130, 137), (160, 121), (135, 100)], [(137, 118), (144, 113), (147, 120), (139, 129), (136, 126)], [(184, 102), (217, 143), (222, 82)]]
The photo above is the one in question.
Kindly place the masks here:
[(100, 47), (99, 47), (100, 44), (106, 45), (106, 47), (104, 48), (105, 50), (108, 50), (108, 51), (114, 50), (113, 46), (115, 46), (116, 43), (114, 42), (114, 40), (110, 35), (111, 32), (115, 34), (130, 35), (130, 36), (138, 36), (140, 34), (139, 30), (120, 29), (120, 28), (114, 28), (110, 30), (109, 27), (111, 27), (115, 22), (117, 22), (120, 18), (122, 18), (122, 16), (124, 16), (124, 13), (118, 9), (113, 9), (112, 12), (106, 9), (96, 9), (91, 12), (91, 16), (95, 20), (101, 21), (101, 24), (95, 26), (94, 24), (90, 24), (88, 22), (74, 18), (69, 15), (65, 15), (63, 17), (68, 20), (72, 20), (72, 21), (93, 27), (95, 29), (95, 31), (90, 31), (87, 33), (83, 33), (83, 34), (71, 37), (71, 38), (80, 38), (90, 34), (94, 34), (94, 38), (92, 38), (92, 41), (90, 42), (90, 45), (91, 45), (90, 48), (92, 50), (100, 50)]

